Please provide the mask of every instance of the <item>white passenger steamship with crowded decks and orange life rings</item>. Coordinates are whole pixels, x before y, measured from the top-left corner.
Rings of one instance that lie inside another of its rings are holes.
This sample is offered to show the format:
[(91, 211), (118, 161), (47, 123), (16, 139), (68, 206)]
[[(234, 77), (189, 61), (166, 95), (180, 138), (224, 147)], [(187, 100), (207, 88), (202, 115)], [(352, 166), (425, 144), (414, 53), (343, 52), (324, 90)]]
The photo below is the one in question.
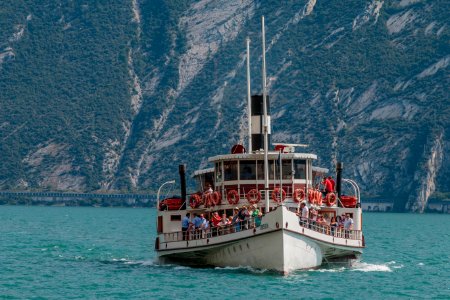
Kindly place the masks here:
[[(247, 39), (247, 147), (236, 144), (229, 153), (209, 157), (209, 168), (193, 172), (197, 189), (190, 194), (184, 164), (178, 168), (181, 196), (159, 199), (173, 180), (158, 190), (155, 251), (160, 263), (288, 274), (351, 263), (363, 253), (360, 189), (343, 178), (343, 163), (337, 162), (330, 174), (315, 165), (317, 155), (305, 151), (308, 145), (271, 143), (264, 36), (263, 17), (262, 94), (250, 95)], [(333, 182), (331, 189), (327, 180)]]

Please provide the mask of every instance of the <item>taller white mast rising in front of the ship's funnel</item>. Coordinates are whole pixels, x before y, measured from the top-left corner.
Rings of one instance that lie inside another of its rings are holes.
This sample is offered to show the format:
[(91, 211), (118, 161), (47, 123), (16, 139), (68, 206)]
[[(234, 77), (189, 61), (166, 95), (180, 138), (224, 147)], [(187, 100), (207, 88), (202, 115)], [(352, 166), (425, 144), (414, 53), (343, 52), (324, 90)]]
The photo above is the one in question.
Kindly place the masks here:
[(262, 65), (262, 83), (263, 83), (263, 128), (264, 128), (264, 197), (266, 200), (266, 213), (269, 212), (270, 200), (269, 200), (269, 137), (268, 129), (270, 124), (267, 120), (267, 81), (266, 81), (266, 32), (264, 30), (264, 16), (261, 17), (261, 27), (262, 27), (262, 54), (263, 54), (263, 65)]

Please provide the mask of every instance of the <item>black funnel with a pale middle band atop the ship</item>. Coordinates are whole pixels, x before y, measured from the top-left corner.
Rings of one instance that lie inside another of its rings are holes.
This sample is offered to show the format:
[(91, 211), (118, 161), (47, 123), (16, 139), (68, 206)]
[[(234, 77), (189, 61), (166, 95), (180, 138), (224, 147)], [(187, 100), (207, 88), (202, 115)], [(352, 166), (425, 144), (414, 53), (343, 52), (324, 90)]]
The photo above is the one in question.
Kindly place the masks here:
[[(269, 97), (266, 99), (267, 108), (267, 128), (268, 144), (270, 144), (270, 105)], [(264, 105), (262, 95), (253, 95), (251, 103), (251, 124), (252, 124), (252, 150), (264, 150)]]

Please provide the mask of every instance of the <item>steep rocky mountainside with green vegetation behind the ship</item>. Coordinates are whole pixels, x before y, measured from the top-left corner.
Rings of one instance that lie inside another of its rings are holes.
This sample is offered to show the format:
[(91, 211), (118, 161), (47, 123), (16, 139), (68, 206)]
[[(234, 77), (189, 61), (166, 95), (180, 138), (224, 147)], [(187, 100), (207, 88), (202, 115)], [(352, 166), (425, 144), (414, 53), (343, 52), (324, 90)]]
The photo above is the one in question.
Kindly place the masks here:
[[(245, 39), (273, 141), (345, 163), (368, 198), (450, 193), (446, 1), (9, 1), (0, 188), (155, 190), (246, 143)], [(364, 199), (363, 199), (364, 201)]]

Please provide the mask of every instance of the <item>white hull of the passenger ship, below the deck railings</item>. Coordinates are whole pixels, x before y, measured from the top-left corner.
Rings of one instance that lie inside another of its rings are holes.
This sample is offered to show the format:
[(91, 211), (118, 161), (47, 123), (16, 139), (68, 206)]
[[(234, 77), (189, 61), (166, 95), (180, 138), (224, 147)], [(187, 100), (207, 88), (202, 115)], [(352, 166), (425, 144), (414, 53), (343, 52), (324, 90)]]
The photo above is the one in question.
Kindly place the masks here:
[(298, 224), (285, 207), (267, 214), (262, 226), (224, 236), (159, 243), (161, 262), (219, 267), (250, 266), (289, 273), (324, 261), (355, 258), (362, 241), (337, 238)]

